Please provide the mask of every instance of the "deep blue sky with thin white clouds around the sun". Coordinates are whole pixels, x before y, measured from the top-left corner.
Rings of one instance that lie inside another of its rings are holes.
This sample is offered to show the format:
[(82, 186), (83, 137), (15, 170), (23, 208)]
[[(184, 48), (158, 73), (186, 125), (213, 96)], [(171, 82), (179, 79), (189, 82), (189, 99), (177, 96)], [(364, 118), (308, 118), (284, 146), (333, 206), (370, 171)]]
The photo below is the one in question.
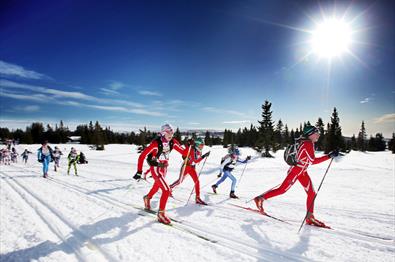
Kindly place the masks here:
[[(395, 132), (393, 1), (1, 1), (0, 125), (115, 131), (330, 121), (344, 135)], [(347, 52), (312, 52), (325, 19)]]

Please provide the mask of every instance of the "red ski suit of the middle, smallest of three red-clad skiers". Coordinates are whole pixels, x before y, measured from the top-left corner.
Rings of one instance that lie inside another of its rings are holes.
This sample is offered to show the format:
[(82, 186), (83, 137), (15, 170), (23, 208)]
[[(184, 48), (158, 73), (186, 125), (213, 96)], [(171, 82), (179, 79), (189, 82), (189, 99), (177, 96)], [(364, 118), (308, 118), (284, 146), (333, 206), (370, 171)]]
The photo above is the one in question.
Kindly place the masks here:
[(184, 181), (185, 177), (189, 174), (192, 177), (193, 182), (195, 183), (196, 197), (200, 198), (200, 183), (199, 183), (198, 175), (196, 173), (195, 164), (198, 164), (200, 163), (200, 161), (203, 160), (202, 153), (196, 150), (194, 147), (189, 147), (189, 148), (185, 149), (184, 153), (182, 154), (182, 158), (185, 159), (188, 155), (188, 151), (190, 150), (185, 170), (184, 172), (182, 172), (185, 163), (184, 161), (184, 163), (181, 166), (180, 177), (173, 184), (171, 184), (170, 187), (174, 188), (175, 186), (181, 184), (182, 181)]

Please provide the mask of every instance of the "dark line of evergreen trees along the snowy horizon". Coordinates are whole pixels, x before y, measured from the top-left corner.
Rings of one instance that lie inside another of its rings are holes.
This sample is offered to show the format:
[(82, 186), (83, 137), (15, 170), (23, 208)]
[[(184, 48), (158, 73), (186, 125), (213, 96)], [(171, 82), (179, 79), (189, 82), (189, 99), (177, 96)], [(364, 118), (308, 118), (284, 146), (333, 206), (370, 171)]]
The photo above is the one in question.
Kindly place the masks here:
[[(319, 151), (328, 153), (334, 149), (343, 152), (350, 150), (384, 151), (386, 149), (386, 142), (381, 133), (370, 136), (368, 139), (364, 121), (361, 123), (357, 136), (354, 134), (351, 138), (344, 137), (336, 108), (333, 109), (331, 120), (326, 125), (319, 117), (315, 123), (300, 123), (300, 126), (295, 130), (289, 130), (287, 124), (284, 124), (281, 119), (277, 122), (273, 120), (271, 106), (272, 103), (267, 100), (262, 104), (261, 119), (257, 126), (251, 124), (249, 128), (239, 128), (237, 132), (225, 129), (222, 138), (206, 131), (204, 137), (206, 145), (227, 146), (235, 144), (240, 147), (249, 146), (260, 152), (262, 156), (270, 157), (270, 151), (275, 152), (294, 143), (295, 139), (302, 135), (304, 126), (311, 124), (315, 125), (321, 134), (316, 143), (316, 149)], [(184, 140), (189, 137), (196, 138), (195, 133), (182, 133), (179, 128), (176, 129), (174, 135), (179, 141), (182, 141), (181, 138), (184, 138)], [(42, 123), (35, 122), (26, 127), (25, 130), (10, 131), (8, 128), (0, 128), (1, 139), (14, 139), (22, 144), (39, 144), (43, 140), (55, 144), (66, 143), (70, 136), (80, 136), (82, 144), (92, 144), (99, 149), (104, 149), (106, 144), (146, 145), (157, 136), (157, 133), (146, 128), (140, 129), (139, 132), (114, 132), (110, 127), (103, 128), (98, 121), (95, 124), (90, 121), (89, 124), (79, 125), (74, 131), (65, 126), (63, 121), (60, 121), (59, 125), (56, 124), (55, 127), (44, 126)], [(392, 134), (392, 139), (388, 142), (388, 149), (395, 153), (395, 133)]]

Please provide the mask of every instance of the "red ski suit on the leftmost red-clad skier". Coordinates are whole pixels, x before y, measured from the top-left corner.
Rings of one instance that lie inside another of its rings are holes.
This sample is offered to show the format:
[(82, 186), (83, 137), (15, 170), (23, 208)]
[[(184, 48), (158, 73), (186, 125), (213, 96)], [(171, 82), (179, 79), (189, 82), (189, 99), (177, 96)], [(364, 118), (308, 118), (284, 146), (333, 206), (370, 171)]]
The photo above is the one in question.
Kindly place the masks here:
[[(167, 173), (167, 165), (169, 161), (169, 154), (170, 154), (170, 141), (166, 141), (164, 138), (162, 138), (162, 145), (163, 145), (163, 150), (161, 155), (157, 155), (159, 148), (158, 148), (158, 142), (157, 140), (154, 140), (151, 142), (151, 144), (141, 152), (139, 159), (138, 159), (138, 164), (137, 164), (137, 171), (142, 172), (143, 170), (143, 163), (144, 159), (151, 154), (152, 159), (156, 162), (164, 163), (165, 167), (158, 167), (155, 165), (150, 165), (150, 171), (152, 174), (152, 177), (154, 178), (155, 182), (154, 185), (152, 186), (151, 190), (148, 193), (148, 198), (152, 198), (156, 192), (158, 192), (159, 188), (162, 190), (162, 196), (160, 197), (160, 202), (159, 202), (159, 210), (165, 210), (166, 208), (166, 203), (167, 199), (169, 198), (171, 189), (169, 185), (166, 183), (165, 176)], [(176, 139), (171, 140), (173, 143), (173, 149), (175, 149), (177, 152), (182, 154), (184, 152), (184, 149), (181, 147), (180, 143)]]

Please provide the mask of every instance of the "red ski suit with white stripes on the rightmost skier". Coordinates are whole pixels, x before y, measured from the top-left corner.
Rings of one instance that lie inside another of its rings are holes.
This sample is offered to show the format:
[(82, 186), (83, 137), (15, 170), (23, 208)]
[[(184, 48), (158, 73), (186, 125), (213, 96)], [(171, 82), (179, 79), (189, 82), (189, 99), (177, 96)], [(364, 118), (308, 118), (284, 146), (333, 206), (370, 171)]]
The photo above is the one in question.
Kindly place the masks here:
[(296, 166), (291, 166), (288, 169), (288, 174), (285, 180), (279, 187), (274, 189), (270, 189), (266, 191), (261, 196), (264, 199), (269, 199), (281, 194), (284, 194), (291, 188), (291, 186), (295, 183), (296, 180), (299, 180), (299, 183), (303, 186), (304, 190), (307, 193), (307, 209), (310, 207), (308, 212), (314, 212), (314, 204), (312, 205), (312, 201), (315, 197), (315, 191), (313, 188), (313, 184), (311, 183), (311, 179), (309, 174), (307, 173), (307, 168), (310, 164), (315, 165), (319, 164), (325, 160), (328, 160), (330, 157), (325, 155), (322, 157), (315, 157), (314, 155), (314, 144), (311, 140), (305, 140), (299, 147), (298, 150), (298, 164)]

